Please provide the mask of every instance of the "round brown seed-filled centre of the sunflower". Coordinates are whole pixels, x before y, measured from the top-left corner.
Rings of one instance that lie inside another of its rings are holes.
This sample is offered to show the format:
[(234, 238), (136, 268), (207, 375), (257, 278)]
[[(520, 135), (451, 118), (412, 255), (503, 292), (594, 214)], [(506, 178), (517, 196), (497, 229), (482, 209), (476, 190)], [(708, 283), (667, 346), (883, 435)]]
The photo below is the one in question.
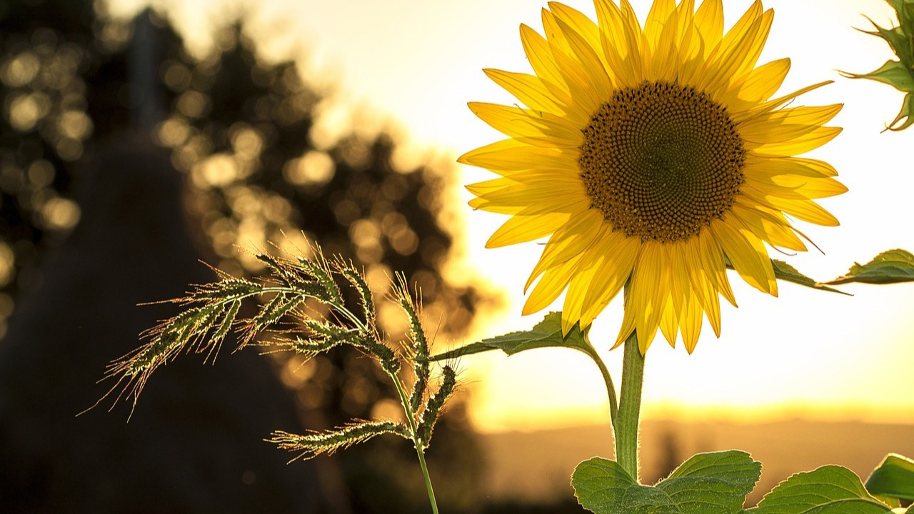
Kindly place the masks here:
[(616, 91), (584, 129), (580, 177), (590, 207), (642, 241), (685, 241), (723, 217), (746, 150), (727, 109), (671, 82)]

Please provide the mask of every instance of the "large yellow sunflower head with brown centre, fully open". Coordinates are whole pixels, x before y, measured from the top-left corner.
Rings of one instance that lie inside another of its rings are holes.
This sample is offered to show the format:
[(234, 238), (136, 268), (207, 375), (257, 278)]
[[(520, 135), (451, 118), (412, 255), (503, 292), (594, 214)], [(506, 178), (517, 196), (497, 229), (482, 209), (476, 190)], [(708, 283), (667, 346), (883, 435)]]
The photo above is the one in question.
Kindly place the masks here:
[(534, 74), (484, 70), (526, 108), (470, 103), (507, 136), (458, 159), (501, 176), (470, 205), (511, 215), (489, 248), (548, 236), (525, 315), (567, 289), (563, 330), (590, 327), (629, 284), (615, 346), (636, 331), (643, 353), (659, 327), (691, 353), (704, 316), (720, 336), (719, 296), (736, 305), (728, 264), (777, 295), (766, 243), (805, 251), (793, 219), (838, 224), (813, 201), (846, 191), (834, 167), (793, 155), (841, 132), (842, 105), (787, 107), (830, 81), (771, 98), (790, 59), (756, 66), (758, 0), (726, 34), (720, 0), (654, 0), (643, 27), (626, 0), (595, 5), (598, 23), (550, 3), (546, 37), (520, 27)]

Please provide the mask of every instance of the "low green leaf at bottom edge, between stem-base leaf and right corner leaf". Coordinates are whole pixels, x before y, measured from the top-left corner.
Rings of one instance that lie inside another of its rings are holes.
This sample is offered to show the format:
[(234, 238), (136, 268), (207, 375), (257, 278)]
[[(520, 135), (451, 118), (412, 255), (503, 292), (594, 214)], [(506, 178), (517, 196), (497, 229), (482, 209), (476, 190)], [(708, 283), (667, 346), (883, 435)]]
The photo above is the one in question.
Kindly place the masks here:
[(870, 496), (858, 478), (841, 466), (798, 473), (774, 487), (750, 514), (884, 514), (891, 512)]

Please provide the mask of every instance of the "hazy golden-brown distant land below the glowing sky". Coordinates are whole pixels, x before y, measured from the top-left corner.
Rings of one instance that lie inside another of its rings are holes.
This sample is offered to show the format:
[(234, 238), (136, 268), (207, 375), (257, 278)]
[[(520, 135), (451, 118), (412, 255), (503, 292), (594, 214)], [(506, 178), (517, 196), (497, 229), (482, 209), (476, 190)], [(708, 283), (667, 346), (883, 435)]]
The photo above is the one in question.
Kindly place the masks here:
[[(914, 455), (914, 424), (781, 421), (696, 423), (673, 419), (642, 424), (644, 483), (665, 477), (699, 452), (746, 450), (764, 466), (749, 495), (755, 504), (781, 480), (826, 464), (846, 466), (866, 480), (887, 453)], [(486, 494), (496, 501), (549, 504), (572, 494), (569, 476), (581, 460), (611, 457), (608, 427), (484, 434)]]

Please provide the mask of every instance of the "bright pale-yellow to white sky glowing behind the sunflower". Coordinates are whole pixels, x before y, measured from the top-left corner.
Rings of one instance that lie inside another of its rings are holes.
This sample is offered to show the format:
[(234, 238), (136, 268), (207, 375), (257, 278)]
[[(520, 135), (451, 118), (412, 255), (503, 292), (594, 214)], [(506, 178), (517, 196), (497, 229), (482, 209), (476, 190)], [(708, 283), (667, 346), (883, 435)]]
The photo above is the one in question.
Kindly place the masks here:
[[(115, 4), (131, 10), (140, 2)], [(728, 25), (749, 3), (724, 0)], [(481, 69), (528, 71), (517, 27), (526, 23), (540, 28), (539, 9), (545, 5), (530, 0), (158, 4), (166, 5), (186, 27), (184, 33), (199, 42), (205, 42), (203, 28), (227, 19), (233, 9), (246, 10), (255, 20), (255, 37), (277, 51), (309, 48), (310, 76), (340, 86), (337, 101), (325, 112), (325, 132), (332, 133), (341, 121), (356, 120), (372, 129), (378, 120), (393, 120), (412, 155), (434, 153), (449, 161), (500, 138), (469, 112), (466, 102), (515, 102)], [(587, 2), (568, 4), (592, 15)], [(649, 2), (632, 4), (643, 19)], [(890, 9), (882, 0), (769, 0), (764, 5), (776, 15), (761, 61), (792, 58), (784, 91), (831, 79), (836, 83), (806, 95), (799, 104), (845, 103), (834, 121), (845, 132), (811, 153), (834, 164), (850, 188), (843, 196), (824, 200), (842, 226), (801, 226), (825, 255), (781, 257), (802, 272), (827, 279), (883, 250), (914, 250), (914, 173), (905, 160), (914, 129), (879, 134), (898, 112), (902, 96), (874, 82), (841, 79), (835, 71), (869, 71), (891, 58), (877, 38), (852, 28), (866, 27), (860, 13), (887, 25)], [(368, 118), (365, 107), (376, 114)], [(489, 175), (468, 167), (455, 170), (462, 174), (461, 183)], [(469, 198), (460, 194), (462, 200)], [(539, 318), (520, 316), (521, 289), (539, 249), (530, 243), (484, 250), (484, 241), (505, 217), (462, 211), (468, 220), (470, 265), (509, 292), (513, 302), (476, 335), (532, 326)], [(914, 421), (914, 284), (846, 287), (854, 297), (784, 284), (781, 297), (772, 298), (732, 278), (740, 308), (724, 306), (720, 339), (706, 323), (692, 356), (683, 348), (665, 346), (661, 338), (651, 348), (644, 385), (647, 415), (744, 418), (776, 412)], [(621, 317), (621, 302), (613, 302), (591, 332), (616, 380), (621, 351), (607, 348)], [(463, 359), (462, 366), (475, 384), (473, 416), (485, 430), (602, 423), (607, 416), (599, 374), (575, 352), (473, 357)]]

